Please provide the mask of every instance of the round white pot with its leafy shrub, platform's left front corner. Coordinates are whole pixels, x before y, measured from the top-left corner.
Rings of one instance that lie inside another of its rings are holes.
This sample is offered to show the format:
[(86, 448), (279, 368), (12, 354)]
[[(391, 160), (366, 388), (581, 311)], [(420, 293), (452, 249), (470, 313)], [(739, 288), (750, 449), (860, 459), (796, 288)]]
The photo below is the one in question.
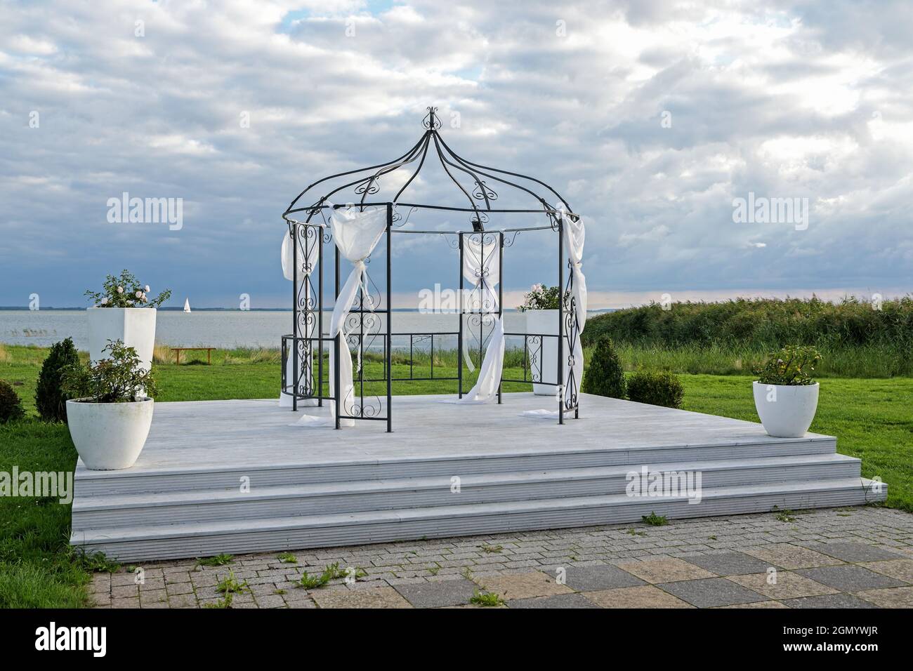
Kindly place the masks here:
[(129, 468), (146, 444), (152, 425), (155, 381), (136, 350), (109, 342), (110, 358), (67, 366), (63, 389), (73, 445), (91, 470)]

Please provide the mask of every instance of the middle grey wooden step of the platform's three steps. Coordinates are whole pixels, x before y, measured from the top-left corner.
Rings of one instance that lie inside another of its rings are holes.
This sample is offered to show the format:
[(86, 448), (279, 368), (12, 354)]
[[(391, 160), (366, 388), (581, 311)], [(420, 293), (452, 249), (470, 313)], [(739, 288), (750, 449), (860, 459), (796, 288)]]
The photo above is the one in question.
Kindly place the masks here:
[[(623, 494), (628, 475), (642, 466), (584, 467), (519, 473), (465, 474), (459, 491), (450, 477), (404, 477), (233, 489), (168, 491), (81, 497), (73, 503), (73, 529), (179, 524), (220, 519), (280, 518), (393, 508), (424, 508)], [(803, 455), (654, 464), (650, 472), (695, 473), (701, 488), (859, 477), (849, 456)]]

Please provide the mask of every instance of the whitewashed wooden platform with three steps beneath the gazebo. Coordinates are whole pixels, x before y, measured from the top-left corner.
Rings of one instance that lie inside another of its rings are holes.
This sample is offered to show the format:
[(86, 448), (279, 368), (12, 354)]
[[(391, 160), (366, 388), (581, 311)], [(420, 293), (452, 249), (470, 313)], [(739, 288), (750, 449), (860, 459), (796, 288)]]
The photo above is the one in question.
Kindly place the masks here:
[[(759, 424), (589, 395), (581, 418), (563, 426), (520, 416), (551, 409), (551, 397), (505, 394), (499, 406), (442, 398), (395, 397), (393, 434), (379, 422), (294, 426), (326, 409), (294, 414), (274, 400), (156, 404), (134, 467), (79, 462), (71, 542), (138, 561), (887, 496), (860, 477), (857, 459), (835, 453), (832, 436), (771, 438)], [(629, 496), (628, 474), (644, 465), (699, 473), (699, 502)]]

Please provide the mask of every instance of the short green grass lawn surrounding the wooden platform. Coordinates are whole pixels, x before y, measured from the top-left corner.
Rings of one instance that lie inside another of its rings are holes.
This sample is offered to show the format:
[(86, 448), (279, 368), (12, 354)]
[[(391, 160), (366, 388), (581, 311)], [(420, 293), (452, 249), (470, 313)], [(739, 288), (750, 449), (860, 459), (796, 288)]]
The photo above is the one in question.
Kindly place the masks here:
[[(35, 418), (35, 383), (46, 350), (0, 348), (0, 380), (16, 384), (30, 415), (0, 425), (0, 471), (72, 470), (76, 450), (65, 425)], [(162, 393), (159, 401), (271, 398), (278, 394), (278, 356), (268, 353), (216, 351), (212, 366), (156, 363)], [(445, 360), (436, 373), (451, 375)], [(369, 375), (380, 372), (375, 362)], [(408, 366), (394, 365), (394, 375)], [(419, 370), (416, 367), (416, 374)], [(505, 375), (519, 377), (515, 367)], [(682, 374), (686, 410), (757, 421), (751, 378), (744, 375)], [(467, 388), (472, 376), (467, 376)], [(383, 384), (366, 385), (385, 393)], [(506, 384), (505, 391), (529, 389)], [(455, 393), (455, 382), (396, 383), (394, 393)], [(888, 484), (887, 506), (913, 511), (913, 379), (827, 378), (822, 381), (818, 414), (812, 430), (837, 436), (839, 452), (863, 459), (863, 475)], [(0, 498), (0, 607), (77, 607), (86, 603), (85, 584), (93, 561), (68, 547), (70, 509), (56, 500)], [(97, 561), (97, 558), (96, 560)]]

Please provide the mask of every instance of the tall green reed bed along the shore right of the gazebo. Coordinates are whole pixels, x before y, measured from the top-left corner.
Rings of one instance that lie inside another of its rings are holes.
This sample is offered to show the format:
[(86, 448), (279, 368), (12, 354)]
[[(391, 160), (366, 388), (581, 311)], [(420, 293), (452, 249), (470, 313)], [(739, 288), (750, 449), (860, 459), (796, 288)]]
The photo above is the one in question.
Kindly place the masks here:
[(913, 376), (913, 298), (737, 299), (631, 308), (593, 317), (584, 346), (611, 337), (626, 370), (750, 374), (771, 351), (813, 345), (820, 377)]

